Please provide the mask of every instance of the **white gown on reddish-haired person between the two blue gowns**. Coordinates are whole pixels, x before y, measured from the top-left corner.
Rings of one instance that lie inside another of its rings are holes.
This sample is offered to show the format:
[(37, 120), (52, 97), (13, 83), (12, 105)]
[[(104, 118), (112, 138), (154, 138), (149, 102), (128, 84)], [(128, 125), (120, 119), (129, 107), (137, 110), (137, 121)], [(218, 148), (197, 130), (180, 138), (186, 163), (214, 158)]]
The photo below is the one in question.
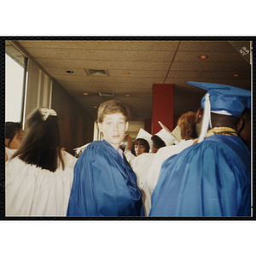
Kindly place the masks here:
[(151, 195), (158, 181), (162, 163), (170, 156), (180, 153), (184, 148), (188, 148), (194, 142), (195, 140), (182, 140), (177, 145), (160, 148), (155, 154), (154, 160), (150, 162), (147, 177), (145, 178), (145, 181), (140, 188), (143, 193), (143, 207), (145, 216), (148, 216), (151, 209)]

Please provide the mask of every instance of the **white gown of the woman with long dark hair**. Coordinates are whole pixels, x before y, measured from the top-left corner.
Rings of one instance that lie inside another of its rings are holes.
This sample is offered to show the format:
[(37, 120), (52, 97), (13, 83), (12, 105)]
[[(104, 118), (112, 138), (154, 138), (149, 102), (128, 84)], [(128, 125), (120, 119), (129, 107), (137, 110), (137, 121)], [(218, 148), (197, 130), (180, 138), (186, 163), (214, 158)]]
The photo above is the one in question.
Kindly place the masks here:
[(5, 165), (6, 216), (66, 216), (76, 158), (62, 151), (65, 170), (28, 165), (15, 157)]

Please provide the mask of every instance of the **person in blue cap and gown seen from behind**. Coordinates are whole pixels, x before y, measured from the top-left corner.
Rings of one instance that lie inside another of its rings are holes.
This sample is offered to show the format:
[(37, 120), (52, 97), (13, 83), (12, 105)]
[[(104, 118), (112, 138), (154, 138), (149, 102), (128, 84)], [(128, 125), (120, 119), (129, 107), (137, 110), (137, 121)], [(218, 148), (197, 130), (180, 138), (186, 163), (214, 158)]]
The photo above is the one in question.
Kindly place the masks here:
[(197, 116), (198, 143), (168, 158), (152, 195), (149, 216), (251, 216), (251, 157), (237, 136), (251, 92), (224, 84), (188, 82), (207, 94)]

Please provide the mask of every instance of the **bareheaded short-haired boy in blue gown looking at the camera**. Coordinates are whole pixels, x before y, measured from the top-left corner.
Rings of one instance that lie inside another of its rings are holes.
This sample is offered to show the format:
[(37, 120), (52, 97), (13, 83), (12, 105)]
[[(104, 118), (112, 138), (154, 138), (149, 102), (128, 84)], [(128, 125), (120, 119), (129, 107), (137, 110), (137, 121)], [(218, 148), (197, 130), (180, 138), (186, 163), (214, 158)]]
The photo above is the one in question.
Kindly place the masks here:
[(67, 216), (143, 216), (137, 177), (119, 148), (128, 129), (128, 110), (119, 101), (103, 102), (98, 127), (104, 140), (84, 149), (74, 166)]

